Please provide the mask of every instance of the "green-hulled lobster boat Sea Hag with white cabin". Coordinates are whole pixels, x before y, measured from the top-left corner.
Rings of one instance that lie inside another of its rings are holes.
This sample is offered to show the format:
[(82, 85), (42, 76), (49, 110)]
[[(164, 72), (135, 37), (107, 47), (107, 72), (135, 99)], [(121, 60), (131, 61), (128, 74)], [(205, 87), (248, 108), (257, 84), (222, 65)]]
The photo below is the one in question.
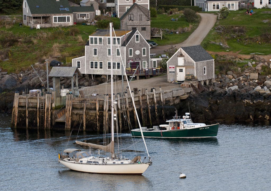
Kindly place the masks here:
[[(190, 113), (185, 116), (174, 116), (167, 120), (168, 124), (153, 126), (151, 129), (142, 127), (144, 137), (149, 138), (205, 138), (217, 137), (218, 123), (206, 125), (205, 123), (193, 123)], [(140, 129), (131, 130), (133, 137), (141, 137)]]

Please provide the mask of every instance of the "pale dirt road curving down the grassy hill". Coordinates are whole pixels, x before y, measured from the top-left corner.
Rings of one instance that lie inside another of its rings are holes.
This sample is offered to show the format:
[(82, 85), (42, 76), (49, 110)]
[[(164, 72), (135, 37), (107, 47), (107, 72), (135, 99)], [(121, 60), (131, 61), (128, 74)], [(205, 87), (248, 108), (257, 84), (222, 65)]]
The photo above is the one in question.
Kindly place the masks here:
[[(175, 44), (175, 48), (178, 50), (180, 47), (188, 47), (193, 45), (201, 44), (202, 40), (206, 37), (208, 32), (212, 29), (215, 22), (217, 21), (217, 16), (208, 13), (199, 13), (201, 16), (201, 22), (198, 28), (183, 42)], [(165, 50), (169, 49), (170, 45), (157, 46), (150, 49), (150, 53), (164, 54)]]

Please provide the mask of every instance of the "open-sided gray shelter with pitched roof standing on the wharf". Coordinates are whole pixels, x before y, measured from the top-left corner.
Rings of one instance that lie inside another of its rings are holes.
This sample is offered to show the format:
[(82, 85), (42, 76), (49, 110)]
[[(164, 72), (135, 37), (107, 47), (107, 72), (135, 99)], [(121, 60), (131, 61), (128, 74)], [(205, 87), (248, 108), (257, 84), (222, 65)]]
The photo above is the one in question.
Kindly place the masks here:
[[(52, 67), (52, 70), (50, 71), (49, 77), (53, 77), (53, 91), (56, 92), (56, 97), (60, 97), (60, 77), (70, 77), (72, 78), (72, 93), (75, 95), (78, 95), (78, 75), (81, 76), (82, 74), (78, 70), (77, 67)], [(75, 76), (75, 82), (76, 87), (73, 88), (74, 79), (73, 76)]]

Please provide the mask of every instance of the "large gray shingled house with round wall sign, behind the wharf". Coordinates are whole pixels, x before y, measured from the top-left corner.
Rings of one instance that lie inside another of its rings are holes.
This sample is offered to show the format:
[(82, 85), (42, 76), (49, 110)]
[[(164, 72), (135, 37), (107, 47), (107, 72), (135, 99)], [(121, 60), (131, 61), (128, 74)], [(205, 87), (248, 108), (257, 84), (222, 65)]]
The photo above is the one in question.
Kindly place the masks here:
[[(85, 45), (85, 56), (72, 59), (72, 66), (78, 67), (82, 74), (121, 75), (122, 60), (126, 70), (131, 71), (139, 65), (143, 75), (150, 66), (149, 44), (138, 30), (115, 30), (110, 42), (109, 30), (100, 29), (89, 35)], [(110, 43), (113, 50), (110, 50)], [(113, 63), (111, 64), (111, 54)], [(126, 71), (126, 72), (127, 72)]]

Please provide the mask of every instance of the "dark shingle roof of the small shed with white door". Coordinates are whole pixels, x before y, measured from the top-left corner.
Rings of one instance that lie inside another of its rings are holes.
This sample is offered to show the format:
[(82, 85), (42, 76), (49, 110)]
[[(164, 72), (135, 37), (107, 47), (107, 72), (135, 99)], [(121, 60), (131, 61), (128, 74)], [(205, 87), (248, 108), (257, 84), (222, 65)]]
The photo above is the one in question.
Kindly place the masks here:
[(204, 49), (201, 45), (195, 45), (191, 47), (181, 47), (186, 54), (188, 54), (193, 61), (201, 62), (206, 60), (214, 60), (213, 57)]

